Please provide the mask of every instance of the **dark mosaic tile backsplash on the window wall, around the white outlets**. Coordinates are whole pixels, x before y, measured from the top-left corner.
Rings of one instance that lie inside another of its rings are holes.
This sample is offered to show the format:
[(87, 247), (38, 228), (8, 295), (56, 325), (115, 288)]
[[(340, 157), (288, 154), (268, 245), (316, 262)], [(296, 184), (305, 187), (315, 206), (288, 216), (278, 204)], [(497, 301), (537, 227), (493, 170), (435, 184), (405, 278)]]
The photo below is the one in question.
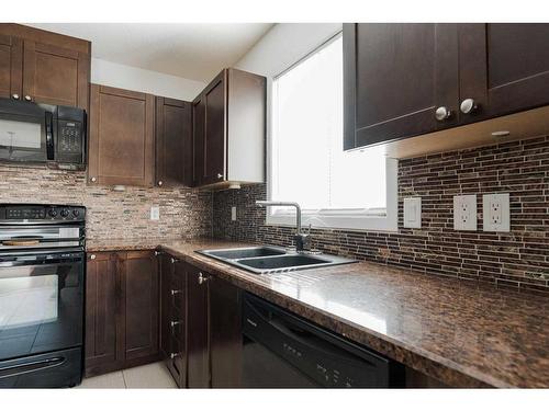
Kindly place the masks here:
[[(482, 231), (482, 194), (511, 194), (511, 232)], [(479, 231), (455, 231), (452, 197), (478, 195)], [(423, 226), (403, 228), (402, 203), (421, 196)], [(214, 237), (287, 246), (293, 230), (265, 225), (265, 184), (213, 196)], [(291, 198), (289, 198), (291, 199)], [(237, 220), (231, 221), (231, 207)], [(549, 137), (424, 156), (399, 164), (399, 231), (313, 229), (313, 247), (426, 273), (549, 292)]]

